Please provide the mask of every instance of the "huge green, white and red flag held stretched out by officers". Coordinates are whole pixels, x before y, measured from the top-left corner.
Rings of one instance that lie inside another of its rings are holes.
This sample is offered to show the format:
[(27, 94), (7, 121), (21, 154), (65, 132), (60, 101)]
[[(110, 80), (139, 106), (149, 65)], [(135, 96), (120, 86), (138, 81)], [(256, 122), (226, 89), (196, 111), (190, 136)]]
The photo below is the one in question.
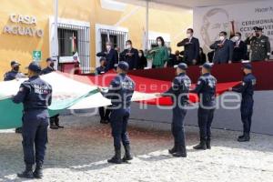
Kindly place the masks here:
[[(49, 106), (50, 116), (55, 116), (64, 109), (87, 109), (99, 106), (110, 106), (111, 101), (98, 91), (98, 86), (109, 86), (115, 73), (107, 73), (103, 76), (76, 76), (60, 72), (53, 72), (41, 76), (52, 86), (53, 100)], [(146, 78), (142, 76), (130, 76), (136, 83), (136, 91), (132, 101), (147, 105), (171, 106), (171, 97), (157, 97), (155, 93), (163, 93), (171, 86), (171, 82)], [(26, 79), (18, 79), (0, 82), (0, 129), (9, 129), (22, 126), (23, 105), (13, 103), (19, 86)], [(228, 87), (237, 86), (239, 82), (217, 84), (217, 96), (227, 91)], [(107, 89), (107, 88), (106, 88)], [(191, 103), (197, 103), (195, 94), (189, 95)]]

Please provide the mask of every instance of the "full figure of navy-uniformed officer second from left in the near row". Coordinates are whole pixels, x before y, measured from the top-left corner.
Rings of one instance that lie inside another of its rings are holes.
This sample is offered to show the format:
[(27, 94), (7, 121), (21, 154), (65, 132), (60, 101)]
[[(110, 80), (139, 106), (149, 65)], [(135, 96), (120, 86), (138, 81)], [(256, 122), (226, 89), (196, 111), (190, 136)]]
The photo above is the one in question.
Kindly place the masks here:
[[(111, 81), (106, 98), (111, 99), (112, 113), (110, 123), (112, 136), (114, 137), (115, 156), (108, 163), (121, 164), (122, 161), (131, 160), (130, 141), (126, 131), (130, 116), (131, 98), (135, 90), (135, 82), (126, 76), (129, 66), (126, 62), (120, 62), (117, 66), (117, 76)], [(125, 147), (125, 156), (121, 159), (121, 141)]]

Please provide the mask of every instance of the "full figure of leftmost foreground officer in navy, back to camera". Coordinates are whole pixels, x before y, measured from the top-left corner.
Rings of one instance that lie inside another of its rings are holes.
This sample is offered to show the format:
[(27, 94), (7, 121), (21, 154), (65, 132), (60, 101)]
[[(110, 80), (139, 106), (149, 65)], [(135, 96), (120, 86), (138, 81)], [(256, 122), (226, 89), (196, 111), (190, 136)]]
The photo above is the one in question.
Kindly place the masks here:
[[(16, 104), (23, 103), (23, 150), (25, 171), (18, 177), (41, 178), (47, 143), (48, 111), (51, 105), (52, 87), (39, 77), (41, 67), (32, 62), (28, 66), (29, 79), (21, 84), (13, 97)], [(33, 165), (36, 163), (35, 171)]]

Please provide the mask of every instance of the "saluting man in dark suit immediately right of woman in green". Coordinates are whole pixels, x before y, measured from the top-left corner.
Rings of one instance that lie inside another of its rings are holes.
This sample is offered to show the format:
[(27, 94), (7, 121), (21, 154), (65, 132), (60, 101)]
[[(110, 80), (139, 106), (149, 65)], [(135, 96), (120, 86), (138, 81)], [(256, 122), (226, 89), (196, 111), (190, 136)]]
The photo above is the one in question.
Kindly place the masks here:
[(187, 65), (196, 65), (197, 57), (199, 54), (199, 40), (193, 37), (194, 30), (192, 28), (187, 29), (187, 38), (177, 44), (177, 46), (184, 46), (184, 62)]

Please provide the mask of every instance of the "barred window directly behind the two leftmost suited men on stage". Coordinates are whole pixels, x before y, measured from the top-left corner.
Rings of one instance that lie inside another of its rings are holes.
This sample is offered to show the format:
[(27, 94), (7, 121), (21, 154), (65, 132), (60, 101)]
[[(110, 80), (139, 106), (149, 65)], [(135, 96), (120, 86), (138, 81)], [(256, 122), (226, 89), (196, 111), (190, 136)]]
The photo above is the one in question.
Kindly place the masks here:
[(120, 50), (125, 49), (125, 42), (128, 39), (128, 34), (122, 31), (116, 31), (111, 29), (99, 29), (101, 36), (101, 50), (106, 48), (106, 42), (109, 40), (113, 46), (119, 47)]

